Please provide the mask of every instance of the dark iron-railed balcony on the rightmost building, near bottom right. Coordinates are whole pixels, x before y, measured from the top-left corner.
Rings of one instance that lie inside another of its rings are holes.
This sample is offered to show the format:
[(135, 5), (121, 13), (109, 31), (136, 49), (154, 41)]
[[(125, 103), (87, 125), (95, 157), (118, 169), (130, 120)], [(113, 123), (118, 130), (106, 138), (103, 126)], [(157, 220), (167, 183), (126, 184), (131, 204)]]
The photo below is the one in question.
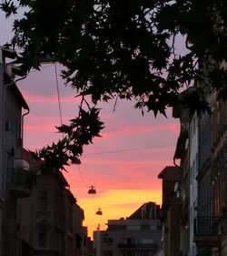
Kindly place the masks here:
[(194, 242), (198, 247), (219, 247), (221, 218), (213, 216), (200, 216), (194, 220)]

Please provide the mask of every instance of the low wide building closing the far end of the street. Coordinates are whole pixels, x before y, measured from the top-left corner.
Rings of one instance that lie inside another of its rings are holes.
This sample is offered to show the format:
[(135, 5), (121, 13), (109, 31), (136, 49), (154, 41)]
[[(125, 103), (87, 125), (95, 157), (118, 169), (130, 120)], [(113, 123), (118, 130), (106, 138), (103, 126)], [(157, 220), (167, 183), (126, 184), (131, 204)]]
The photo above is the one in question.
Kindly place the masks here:
[(154, 256), (161, 251), (159, 210), (148, 202), (126, 219), (108, 220), (107, 230), (94, 231), (95, 256)]

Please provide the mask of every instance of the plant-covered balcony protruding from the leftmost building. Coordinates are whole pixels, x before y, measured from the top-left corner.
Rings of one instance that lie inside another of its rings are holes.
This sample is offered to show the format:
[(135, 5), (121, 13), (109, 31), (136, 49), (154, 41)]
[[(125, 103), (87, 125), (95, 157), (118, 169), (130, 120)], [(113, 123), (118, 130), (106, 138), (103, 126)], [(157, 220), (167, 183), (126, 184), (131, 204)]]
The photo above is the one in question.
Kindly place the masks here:
[(34, 174), (30, 169), (14, 169), (10, 190), (16, 198), (25, 198), (31, 195), (34, 185)]

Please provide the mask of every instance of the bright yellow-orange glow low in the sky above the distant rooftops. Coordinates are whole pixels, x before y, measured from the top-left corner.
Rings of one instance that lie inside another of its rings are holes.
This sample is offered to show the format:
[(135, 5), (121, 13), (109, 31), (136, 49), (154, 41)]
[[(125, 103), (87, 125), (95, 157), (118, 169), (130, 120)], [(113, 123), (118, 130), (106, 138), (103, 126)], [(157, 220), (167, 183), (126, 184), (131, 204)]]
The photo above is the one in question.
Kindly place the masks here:
[[(76, 194), (76, 190), (72, 189)], [(88, 226), (88, 233), (93, 237), (93, 230), (96, 230), (98, 224), (100, 229), (106, 229), (107, 220), (118, 220), (129, 217), (135, 210), (140, 208), (143, 203), (153, 201), (161, 204), (162, 190), (138, 190), (138, 189), (114, 189), (108, 190), (99, 196), (98, 194), (90, 198), (78, 200), (78, 204), (85, 209), (84, 226)], [(95, 212), (101, 208), (103, 215), (96, 215)]]

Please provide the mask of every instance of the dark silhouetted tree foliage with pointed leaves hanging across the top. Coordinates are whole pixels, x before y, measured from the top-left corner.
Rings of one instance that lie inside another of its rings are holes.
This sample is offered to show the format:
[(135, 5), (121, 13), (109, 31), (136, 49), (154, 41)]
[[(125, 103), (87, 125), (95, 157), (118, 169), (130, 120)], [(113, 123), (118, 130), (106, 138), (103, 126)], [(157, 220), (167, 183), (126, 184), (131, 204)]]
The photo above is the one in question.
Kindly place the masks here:
[[(78, 118), (58, 128), (66, 135), (59, 142), (64, 157), (78, 157), (104, 128), (95, 108), (99, 101), (134, 99), (135, 108), (156, 116), (178, 104), (207, 109), (207, 89), (227, 98), (225, 0), (4, 0), (1, 5), (6, 16), (20, 7), (26, 7), (25, 15), (15, 20), (10, 43), (22, 50), (18, 64), (28, 72), (46, 58), (61, 63), (65, 84), (82, 97)], [(186, 49), (181, 55), (178, 35)], [(179, 97), (197, 82), (202, 87)], [(42, 157), (54, 148), (57, 144), (45, 148)], [(55, 167), (63, 168), (63, 162)]]

